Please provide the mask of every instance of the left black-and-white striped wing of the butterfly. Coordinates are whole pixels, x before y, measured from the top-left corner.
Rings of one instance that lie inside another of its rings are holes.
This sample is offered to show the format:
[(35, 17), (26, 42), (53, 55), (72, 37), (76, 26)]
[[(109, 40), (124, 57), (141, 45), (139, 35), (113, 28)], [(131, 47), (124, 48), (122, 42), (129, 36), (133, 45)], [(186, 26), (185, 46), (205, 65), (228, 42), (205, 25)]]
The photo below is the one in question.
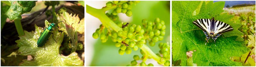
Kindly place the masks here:
[(193, 22), (193, 24), (195, 24), (196, 26), (198, 26), (203, 30), (207, 30), (211, 22), (212, 22), (211, 19), (197, 19)]

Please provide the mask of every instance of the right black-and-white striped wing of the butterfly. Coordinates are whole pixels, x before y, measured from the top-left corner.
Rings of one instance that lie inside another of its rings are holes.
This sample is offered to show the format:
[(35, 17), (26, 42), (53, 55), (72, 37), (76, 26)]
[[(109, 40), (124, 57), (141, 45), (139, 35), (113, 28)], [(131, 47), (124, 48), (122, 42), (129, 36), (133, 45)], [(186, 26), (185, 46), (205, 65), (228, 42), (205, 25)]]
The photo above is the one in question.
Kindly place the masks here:
[(215, 27), (217, 27), (219, 33), (224, 33), (224, 32), (233, 30), (233, 28), (230, 25), (228, 25), (224, 22), (221, 22), (219, 20), (215, 20), (215, 23), (216, 23)]

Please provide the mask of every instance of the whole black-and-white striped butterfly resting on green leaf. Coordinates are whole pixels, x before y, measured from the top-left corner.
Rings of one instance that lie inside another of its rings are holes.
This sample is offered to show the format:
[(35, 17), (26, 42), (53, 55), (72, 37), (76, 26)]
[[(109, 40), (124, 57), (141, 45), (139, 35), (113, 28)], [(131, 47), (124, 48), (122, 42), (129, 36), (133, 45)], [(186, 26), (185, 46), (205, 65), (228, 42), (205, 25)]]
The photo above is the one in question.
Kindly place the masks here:
[[(212, 19), (196, 19), (193, 24), (201, 28), (205, 34), (205, 37), (207, 38), (207, 41), (212, 38), (215, 42), (215, 40), (221, 35), (221, 33), (232, 31), (233, 28), (219, 20)], [(205, 43), (205, 45), (206, 45)], [(215, 45), (216, 46), (216, 45)]]

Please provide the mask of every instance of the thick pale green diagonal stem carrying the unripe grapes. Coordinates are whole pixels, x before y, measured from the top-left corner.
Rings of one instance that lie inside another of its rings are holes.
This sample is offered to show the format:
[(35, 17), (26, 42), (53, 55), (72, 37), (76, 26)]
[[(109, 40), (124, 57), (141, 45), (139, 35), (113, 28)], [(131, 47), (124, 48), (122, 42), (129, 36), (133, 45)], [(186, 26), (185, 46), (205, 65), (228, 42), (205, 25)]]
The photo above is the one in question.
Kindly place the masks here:
[[(86, 12), (91, 14), (92, 16), (100, 19), (103, 26), (106, 26), (107, 28), (111, 27), (116, 32), (123, 31), (122, 28), (118, 27), (111, 19), (108, 18), (108, 16), (105, 14), (107, 10), (116, 8), (116, 5), (113, 5), (112, 7), (103, 7), (102, 9), (95, 9), (89, 5), (86, 5)], [(156, 60), (158, 63), (160, 63), (161, 57), (157, 56), (150, 48), (148, 48), (147, 45), (143, 44), (143, 46), (140, 48), (142, 49), (146, 55), (152, 57), (154, 60)], [(148, 58), (145, 57), (145, 58)], [(145, 61), (145, 60), (143, 60)], [(161, 63), (164, 65), (164, 63)]]

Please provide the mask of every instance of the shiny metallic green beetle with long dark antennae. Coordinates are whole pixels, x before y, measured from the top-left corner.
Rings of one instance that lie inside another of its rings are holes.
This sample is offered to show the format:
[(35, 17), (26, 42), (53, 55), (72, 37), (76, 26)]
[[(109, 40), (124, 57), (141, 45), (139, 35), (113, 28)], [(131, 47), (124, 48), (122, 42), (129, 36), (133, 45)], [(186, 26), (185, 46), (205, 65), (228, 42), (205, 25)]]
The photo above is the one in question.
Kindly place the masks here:
[[(60, 22), (63, 22), (63, 21), (60, 21)], [(58, 23), (60, 23), (58, 22)], [(58, 24), (56, 23), (56, 24)], [(51, 23), (50, 25), (48, 25), (48, 27), (46, 27), (44, 29), (44, 32), (41, 33), (41, 36), (39, 37), (38, 41), (37, 41), (37, 47), (42, 47), (44, 46), (44, 44), (46, 43), (46, 41), (48, 41), (49, 37), (51, 36), (52, 31), (53, 31), (53, 28), (55, 27), (55, 23)], [(54, 38), (53, 38), (53, 35), (52, 35), (52, 39), (57, 42)], [(45, 50), (45, 47), (44, 47), (44, 50)]]

